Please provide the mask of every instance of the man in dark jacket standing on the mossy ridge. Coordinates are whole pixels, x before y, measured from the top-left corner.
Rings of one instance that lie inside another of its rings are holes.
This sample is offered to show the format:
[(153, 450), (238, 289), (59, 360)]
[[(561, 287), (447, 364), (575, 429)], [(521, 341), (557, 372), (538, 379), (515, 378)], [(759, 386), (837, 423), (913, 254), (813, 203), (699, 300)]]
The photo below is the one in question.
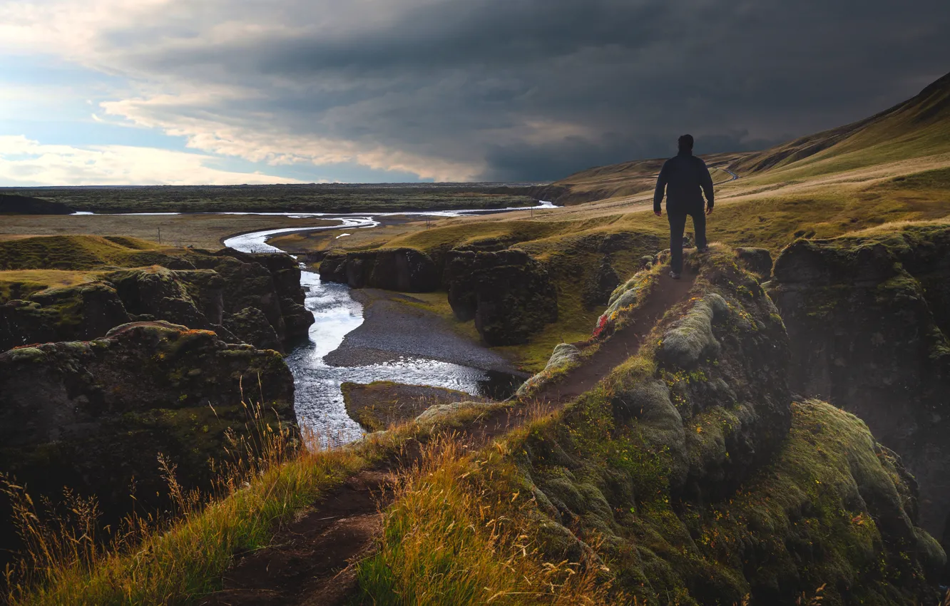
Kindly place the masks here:
[(706, 215), (712, 215), (712, 175), (706, 162), (693, 156), (693, 135), (679, 138), (679, 153), (663, 162), (656, 180), (654, 215), (662, 217), (663, 193), (666, 193), (666, 214), (670, 219), (670, 276), (675, 280), (683, 273), (683, 230), (686, 217), (693, 218), (696, 248), (700, 253), (706, 245), (706, 216), (703, 215), (703, 194), (706, 194)]

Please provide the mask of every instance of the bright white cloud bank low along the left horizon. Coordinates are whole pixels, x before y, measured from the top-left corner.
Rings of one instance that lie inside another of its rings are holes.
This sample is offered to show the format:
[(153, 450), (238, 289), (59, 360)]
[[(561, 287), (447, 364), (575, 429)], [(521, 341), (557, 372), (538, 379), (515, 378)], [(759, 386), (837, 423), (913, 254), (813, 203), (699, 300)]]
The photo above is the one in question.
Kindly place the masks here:
[(202, 154), (130, 145), (45, 145), (0, 136), (0, 184), (237, 185), (299, 183), (286, 177), (219, 170)]

